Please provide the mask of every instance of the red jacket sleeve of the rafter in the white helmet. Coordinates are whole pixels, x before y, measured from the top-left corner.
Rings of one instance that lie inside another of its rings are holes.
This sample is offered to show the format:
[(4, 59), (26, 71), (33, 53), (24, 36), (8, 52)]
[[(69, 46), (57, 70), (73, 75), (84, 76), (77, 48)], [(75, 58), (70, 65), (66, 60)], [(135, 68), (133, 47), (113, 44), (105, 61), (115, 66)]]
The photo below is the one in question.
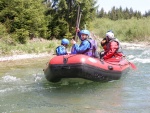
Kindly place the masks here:
[(105, 52), (105, 55), (103, 56), (103, 59), (111, 58), (116, 53), (116, 51), (118, 50), (118, 48), (119, 48), (119, 46), (118, 46), (117, 42), (115, 42), (115, 41), (110, 42), (109, 50), (107, 50)]

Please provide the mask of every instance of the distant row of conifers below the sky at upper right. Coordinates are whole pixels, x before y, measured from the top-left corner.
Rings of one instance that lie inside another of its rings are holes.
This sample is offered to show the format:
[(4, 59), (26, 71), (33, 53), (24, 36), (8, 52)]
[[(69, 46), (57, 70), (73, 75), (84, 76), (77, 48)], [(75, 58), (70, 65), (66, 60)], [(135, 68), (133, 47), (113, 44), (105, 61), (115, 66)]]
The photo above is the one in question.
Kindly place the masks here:
[(97, 11), (98, 18), (109, 18), (111, 20), (119, 20), (119, 19), (131, 19), (131, 18), (143, 18), (150, 16), (150, 10), (142, 14), (140, 11), (134, 11), (132, 8), (123, 9), (121, 6), (116, 8), (115, 6), (108, 12), (104, 11), (104, 8), (101, 8)]

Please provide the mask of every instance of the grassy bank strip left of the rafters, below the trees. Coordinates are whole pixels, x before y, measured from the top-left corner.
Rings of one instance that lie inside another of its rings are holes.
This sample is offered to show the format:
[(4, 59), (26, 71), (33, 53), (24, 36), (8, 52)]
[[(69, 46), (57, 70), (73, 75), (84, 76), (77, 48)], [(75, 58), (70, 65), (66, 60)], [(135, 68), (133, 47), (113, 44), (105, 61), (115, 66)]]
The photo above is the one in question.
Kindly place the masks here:
[(55, 49), (60, 45), (59, 40), (43, 40), (34, 39), (28, 41), (26, 44), (7, 44), (0, 41), (0, 56), (10, 56), (16, 54), (30, 54), (30, 53), (55, 53)]

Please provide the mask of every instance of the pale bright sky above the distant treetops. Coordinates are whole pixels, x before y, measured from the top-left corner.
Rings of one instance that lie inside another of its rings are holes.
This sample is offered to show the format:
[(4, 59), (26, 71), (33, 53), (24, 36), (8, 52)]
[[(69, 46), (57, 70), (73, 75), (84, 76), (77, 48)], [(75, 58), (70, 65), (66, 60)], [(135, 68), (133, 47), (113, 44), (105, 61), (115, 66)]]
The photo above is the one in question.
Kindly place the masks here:
[(110, 11), (113, 6), (116, 8), (121, 6), (122, 9), (132, 8), (133, 11), (140, 11), (142, 14), (150, 11), (150, 0), (97, 0), (97, 5), (99, 5), (99, 10), (103, 7), (106, 12)]

